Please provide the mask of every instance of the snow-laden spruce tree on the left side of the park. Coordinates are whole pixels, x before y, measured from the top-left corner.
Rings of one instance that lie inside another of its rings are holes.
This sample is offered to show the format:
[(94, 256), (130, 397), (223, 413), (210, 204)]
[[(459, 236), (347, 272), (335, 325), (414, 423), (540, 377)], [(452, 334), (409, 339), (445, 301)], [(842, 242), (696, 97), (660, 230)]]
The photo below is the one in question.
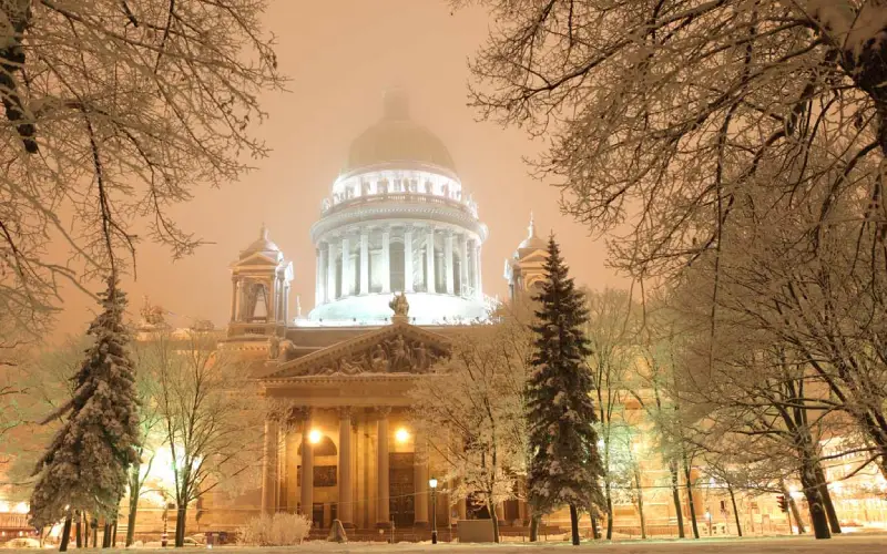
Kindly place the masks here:
[(31, 522), (58, 522), (75, 510), (113, 517), (126, 492), (131, 464), (139, 463), (139, 404), (135, 376), (123, 325), (126, 297), (115, 278), (100, 295), (102, 312), (88, 331), (86, 350), (71, 400), (47, 421), (64, 418), (47, 453), (38, 461), (31, 494)]

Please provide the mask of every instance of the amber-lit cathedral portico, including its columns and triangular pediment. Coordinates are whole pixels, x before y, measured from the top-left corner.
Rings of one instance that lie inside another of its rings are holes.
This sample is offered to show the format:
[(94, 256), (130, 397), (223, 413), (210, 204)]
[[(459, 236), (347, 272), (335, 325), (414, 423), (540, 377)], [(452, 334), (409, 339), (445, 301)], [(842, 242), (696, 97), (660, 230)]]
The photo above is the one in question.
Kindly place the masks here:
[[(265, 377), (275, 409), (265, 424), (263, 512), (304, 513), (318, 527), (335, 519), (427, 526), (428, 456), (409, 424), (408, 391), (447, 346), (397, 320)], [(446, 524), (448, 509), (438, 513)]]

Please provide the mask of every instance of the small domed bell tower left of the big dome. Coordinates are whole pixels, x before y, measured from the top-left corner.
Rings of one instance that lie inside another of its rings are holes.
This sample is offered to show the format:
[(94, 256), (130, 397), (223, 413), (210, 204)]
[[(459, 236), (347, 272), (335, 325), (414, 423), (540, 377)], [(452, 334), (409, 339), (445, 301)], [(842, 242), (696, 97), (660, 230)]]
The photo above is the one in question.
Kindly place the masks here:
[(258, 239), (231, 265), (228, 337), (283, 336), (289, 319), (292, 280), (293, 263), (284, 259), (263, 225)]

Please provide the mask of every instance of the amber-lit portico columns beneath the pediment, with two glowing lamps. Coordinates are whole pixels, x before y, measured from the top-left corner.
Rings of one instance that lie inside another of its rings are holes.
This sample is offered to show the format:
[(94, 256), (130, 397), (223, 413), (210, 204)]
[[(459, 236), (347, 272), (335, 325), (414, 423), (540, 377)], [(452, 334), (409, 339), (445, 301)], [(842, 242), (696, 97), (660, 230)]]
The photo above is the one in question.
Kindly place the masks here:
[[(425, 440), (402, 408), (299, 408), (286, 422), (265, 422), (262, 512), (303, 513), (315, 527), (428, 527), (430, 494)], [(465, 501), (437, 497), (438, 525), (463, 517)], [(308, 507), (309, 506), (309, 507)]]

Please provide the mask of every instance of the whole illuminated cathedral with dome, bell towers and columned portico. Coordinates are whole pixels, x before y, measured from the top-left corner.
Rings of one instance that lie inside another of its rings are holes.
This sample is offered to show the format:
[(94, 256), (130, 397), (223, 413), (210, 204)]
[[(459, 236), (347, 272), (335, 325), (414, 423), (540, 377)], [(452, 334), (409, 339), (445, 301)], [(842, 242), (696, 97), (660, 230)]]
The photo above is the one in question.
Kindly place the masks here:
[[(261, 510), (299, 512), (315, 526), (427, 527), (466, 519), (441, 482), (431, 506), (428, 438), (410, 429), (407, 392), (448, 352), (453, 332), (487, 321), (481, 253), (488, 236), (447, 147), (386, 94), (381, 119), (350, 145), (320, 206), (315, 307), (290, 317), (293, 266), (263, 228), (232, 265), (224, 347), (252, 357), (272, 403)], [(546, 242), (534, 232), (506, 261), (511, 295), (543, 278)], [(436, 507), (436, 510), (432, 510)], [(522, 521), (526, 506), (500, 506)]]

